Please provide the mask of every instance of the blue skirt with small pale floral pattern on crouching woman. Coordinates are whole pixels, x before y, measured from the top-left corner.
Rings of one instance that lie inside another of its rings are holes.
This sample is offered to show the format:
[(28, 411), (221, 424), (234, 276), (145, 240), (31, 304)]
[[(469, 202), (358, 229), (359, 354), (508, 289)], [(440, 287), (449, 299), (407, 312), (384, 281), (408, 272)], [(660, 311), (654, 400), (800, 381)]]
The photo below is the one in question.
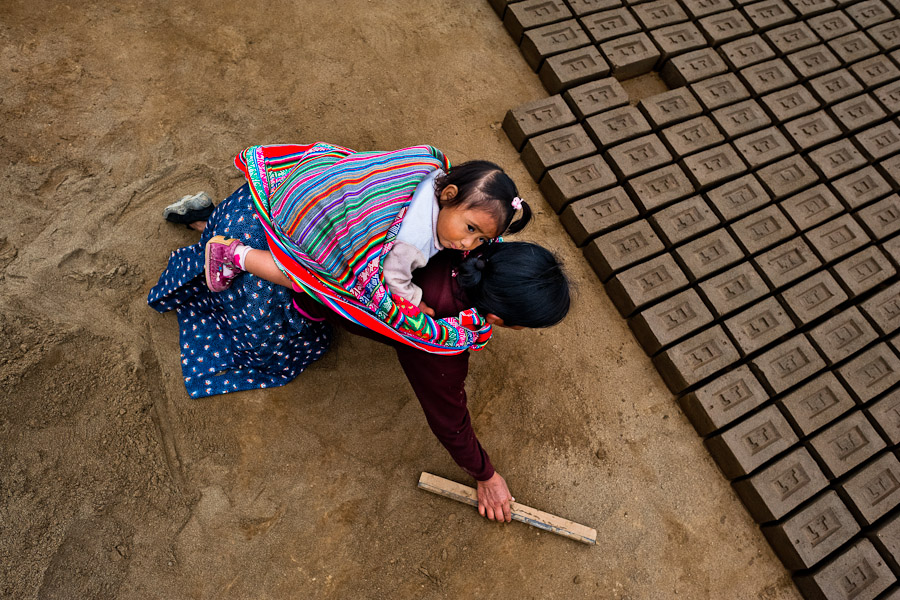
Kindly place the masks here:
[(219, 203), (200, 242), (172, 253), (147, 297), (157, 311), (178, 314), (184, 385), (192, 398), (284, 385), (322, 357), (331, 328), (297, 312), (290, 290), (249, 273), (209, 291), (203, 249), (214, 235), (268, 247), (247, 185)]

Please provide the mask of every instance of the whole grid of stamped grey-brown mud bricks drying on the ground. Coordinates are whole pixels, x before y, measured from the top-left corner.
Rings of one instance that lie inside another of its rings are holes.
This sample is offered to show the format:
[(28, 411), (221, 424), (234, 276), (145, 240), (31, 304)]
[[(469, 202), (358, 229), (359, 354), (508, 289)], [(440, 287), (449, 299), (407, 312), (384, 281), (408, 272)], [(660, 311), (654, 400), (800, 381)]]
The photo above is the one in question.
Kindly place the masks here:
[(491, 4), (549, 94), (504, 130), (798, 589), (900, 598), (900, 0)]

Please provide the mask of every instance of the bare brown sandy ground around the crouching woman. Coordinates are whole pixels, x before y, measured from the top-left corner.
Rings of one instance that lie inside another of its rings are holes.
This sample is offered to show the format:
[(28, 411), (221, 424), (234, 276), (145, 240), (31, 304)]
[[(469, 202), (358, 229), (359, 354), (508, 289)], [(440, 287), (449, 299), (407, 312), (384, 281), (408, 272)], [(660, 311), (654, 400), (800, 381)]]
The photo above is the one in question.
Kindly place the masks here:
[[(0, 53), (0, 597), (797, 597), (500, 129), (546, 94), (486, 1), (4, 0)], [(417, 490), (471, 482), (374, 342), (187, 397), (146, 295), (196, 237), (162, 208), (317, 139), (490, 158), (538, 208), (574, 308), (475, 355), (471, 410), (597, 546)]]

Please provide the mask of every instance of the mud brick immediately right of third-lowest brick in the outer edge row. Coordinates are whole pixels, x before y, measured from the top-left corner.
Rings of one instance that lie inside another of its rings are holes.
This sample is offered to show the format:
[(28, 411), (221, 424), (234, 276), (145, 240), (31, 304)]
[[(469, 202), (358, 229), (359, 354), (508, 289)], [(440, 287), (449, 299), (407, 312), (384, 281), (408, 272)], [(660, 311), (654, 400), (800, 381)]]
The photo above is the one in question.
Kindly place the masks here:
[(862, 411), (842, 417), (809, 440), (822, 471), (838, 478), (884, 449), (885, 443)]

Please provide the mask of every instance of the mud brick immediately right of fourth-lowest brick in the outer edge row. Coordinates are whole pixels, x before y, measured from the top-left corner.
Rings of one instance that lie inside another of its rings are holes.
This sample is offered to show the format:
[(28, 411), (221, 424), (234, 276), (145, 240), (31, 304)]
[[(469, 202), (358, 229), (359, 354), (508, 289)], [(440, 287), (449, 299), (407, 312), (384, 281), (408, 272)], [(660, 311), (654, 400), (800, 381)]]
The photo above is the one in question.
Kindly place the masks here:
[(830, 371), (783, 397), (779, 404), (794, 428), (804, 436), (828, 425), (856, 406), (853, 398)]

